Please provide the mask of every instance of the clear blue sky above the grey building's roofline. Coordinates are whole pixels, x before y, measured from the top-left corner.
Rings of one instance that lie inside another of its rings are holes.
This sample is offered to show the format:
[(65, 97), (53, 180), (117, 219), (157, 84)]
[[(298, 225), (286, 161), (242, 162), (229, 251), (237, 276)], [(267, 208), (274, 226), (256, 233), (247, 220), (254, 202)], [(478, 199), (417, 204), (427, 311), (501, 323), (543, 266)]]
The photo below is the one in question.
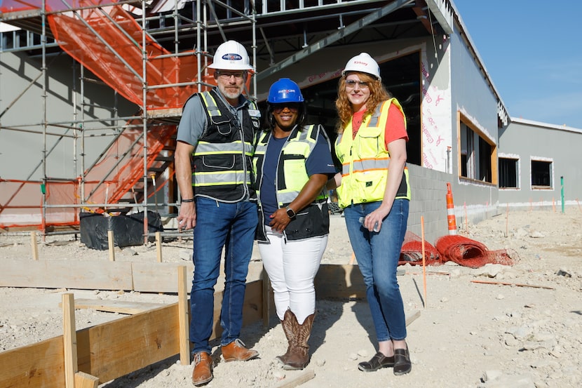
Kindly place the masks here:
[(582, 129), (582, 1), (453, 1), (511, 117)]

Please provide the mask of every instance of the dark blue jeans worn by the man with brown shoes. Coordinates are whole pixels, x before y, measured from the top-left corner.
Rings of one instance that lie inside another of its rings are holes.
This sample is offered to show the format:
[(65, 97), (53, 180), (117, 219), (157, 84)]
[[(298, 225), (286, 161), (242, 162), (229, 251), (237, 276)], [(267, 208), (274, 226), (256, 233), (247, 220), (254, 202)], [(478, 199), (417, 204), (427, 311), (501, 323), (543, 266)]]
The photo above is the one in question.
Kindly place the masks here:
[(248, 264), (258, 220), (256, 203), (224, 203), (196, 197), (194, 280), (190, 294), (193, 354), (210, 354), (208, 341), (214, 320), (214, 287), (220, 272), (223, 247), (225, 281), (220, 312), (220, 344), (233, 342), (241, 333)]

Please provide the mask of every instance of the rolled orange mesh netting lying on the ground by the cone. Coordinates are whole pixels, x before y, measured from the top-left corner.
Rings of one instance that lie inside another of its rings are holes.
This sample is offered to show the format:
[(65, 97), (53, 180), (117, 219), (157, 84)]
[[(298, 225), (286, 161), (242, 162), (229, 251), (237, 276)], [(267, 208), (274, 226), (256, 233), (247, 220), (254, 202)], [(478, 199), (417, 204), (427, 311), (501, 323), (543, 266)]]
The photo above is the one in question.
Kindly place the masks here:
[(443, 262), (453, 261), (464, 267), (479, 268), (486, 264), (514, 264), (514, 260), (506, 249), (488, 250), (484, 244), (465, 236), (442, 236), (436, 241), (435, 246)]

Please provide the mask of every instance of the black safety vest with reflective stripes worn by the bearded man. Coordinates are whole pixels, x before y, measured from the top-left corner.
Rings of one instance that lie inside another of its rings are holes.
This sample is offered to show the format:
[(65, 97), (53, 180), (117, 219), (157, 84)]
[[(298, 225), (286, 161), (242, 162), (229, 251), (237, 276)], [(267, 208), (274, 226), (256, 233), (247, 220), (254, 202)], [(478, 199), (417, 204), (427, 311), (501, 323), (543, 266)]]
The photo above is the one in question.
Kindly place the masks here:
[(251, 185), (252, 140), (259, 121), (243, 109), (243, 123), (232, 114), (213, 89), (199, 93), (208, 125), (194, 149), (194, 195), (224, 202), (254, 198)]

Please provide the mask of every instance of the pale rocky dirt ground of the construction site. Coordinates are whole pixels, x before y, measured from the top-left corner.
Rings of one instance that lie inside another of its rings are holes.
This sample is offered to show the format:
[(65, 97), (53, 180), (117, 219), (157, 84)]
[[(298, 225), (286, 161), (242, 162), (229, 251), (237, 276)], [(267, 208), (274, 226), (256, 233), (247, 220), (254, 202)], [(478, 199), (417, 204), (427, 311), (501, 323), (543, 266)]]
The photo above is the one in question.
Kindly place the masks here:
[[(460, 234), (489, 250), (507, 249), (512, 266), (471, 269), (449, 262), (426, 268), (401, 266), (399, 276), (409, 318), (407, 343), (412, 372), (395, 376), (389, 368), (363, 373), (360, 361), (374, 355), (374, 331), (365, 300), (318, 300), (311, 335), (314, 377), (300, 387), (578, 388), (582, 385), (582, 212), (514, 211)], [(466, 230), (465, 230), (466, 229)], [(443, 234), (446, 233), (446, 225)], [(429, 241), (434, 243), (434, 241)], [(116, 248), (117, 249), (117, 248)], [(164, 243), (164, 261), (190, 260), (191, 241)], [(29, 236), (0, 234), (0, 265), (32, 260)], [(48, 236), (40, 260), (108, 260), (107, 251), (86, 248), (73, 236)], [(344, 218), (332, 215), (324, 264), (348, 264), (351, 248)], [(116, 250), (116, 260), (156, 260), (156, 248)], [(260, 261), (255, 249), (253, 261)], [(476, 283), (496, 282), (497, 284)], [(501, 284), (508, 283), (508, 284)], [(0, 288), (0, 352), (62, 333), (58, 304), (65, 290)], [(172, 303), (175, 295), (67, 290), (76, 298)], [(426, 295), (426, 297), (425, 297)], [(79, 309), (76, 328), (119, 318), (120, 314)], [(260, 353), (245, 363), (224, 363), (214, 343), (215, 378), (207, 387), (278, 387), (302, 376), (280, 368), (275, 357), (287, 347), (278, 321), (243, 328), (241, 339)], [(1, 368), (1, 366), (0, 366)], [(191, 366), (175, 356), (106, 382), (107, 388), (193, 387)]]

